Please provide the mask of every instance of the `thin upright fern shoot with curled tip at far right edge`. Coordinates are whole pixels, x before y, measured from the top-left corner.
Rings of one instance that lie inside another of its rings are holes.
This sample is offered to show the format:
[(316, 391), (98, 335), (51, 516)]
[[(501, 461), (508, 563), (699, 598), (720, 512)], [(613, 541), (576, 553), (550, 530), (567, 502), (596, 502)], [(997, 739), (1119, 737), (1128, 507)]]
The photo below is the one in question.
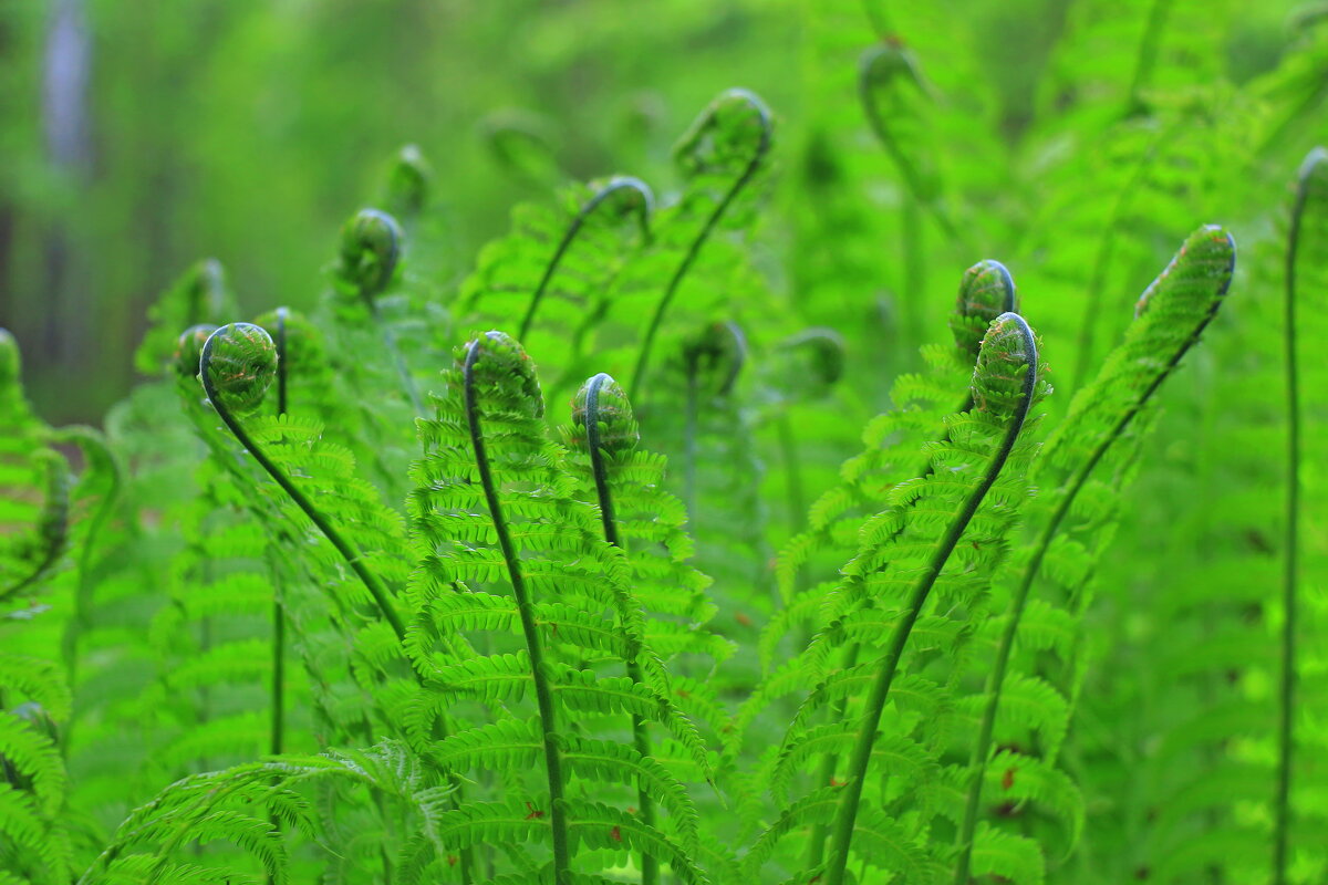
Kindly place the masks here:
[[(1283, 346), (1287, 372), (1287, 500), (1286, 549), (1282, 576), (1282, 673), (1278, 691), (1278, 785), (1274, 795), (1272, 881), (1287, 881), (1287, 848), (1291, 833), (1291, 767), (1295, 754), (1293, 715), (1296, 703), (1296, 596), (1300, 553), (1300, 366), (1296, 354), (1296, 269), (1300, 240), (1324, 238), (1328, 212), (1328, 151), (1313, 149), (1300, 166), (1296, 202), (1291, 208), (1287, 236), (1286, 308)], [(1305, 222), (1307, 208), (1313, 207)]]

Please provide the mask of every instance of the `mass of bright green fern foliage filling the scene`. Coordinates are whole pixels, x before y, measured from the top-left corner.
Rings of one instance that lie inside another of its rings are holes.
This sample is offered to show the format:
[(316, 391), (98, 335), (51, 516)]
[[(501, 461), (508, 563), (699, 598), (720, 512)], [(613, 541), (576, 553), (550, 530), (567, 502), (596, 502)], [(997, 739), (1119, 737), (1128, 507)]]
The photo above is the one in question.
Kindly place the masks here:
[(486, 109), (308, 313), (194, 265), (105, 431), (0, 330), (0, 882), (1328, 874), (1323, 17), (772, 9), (801, 100)]

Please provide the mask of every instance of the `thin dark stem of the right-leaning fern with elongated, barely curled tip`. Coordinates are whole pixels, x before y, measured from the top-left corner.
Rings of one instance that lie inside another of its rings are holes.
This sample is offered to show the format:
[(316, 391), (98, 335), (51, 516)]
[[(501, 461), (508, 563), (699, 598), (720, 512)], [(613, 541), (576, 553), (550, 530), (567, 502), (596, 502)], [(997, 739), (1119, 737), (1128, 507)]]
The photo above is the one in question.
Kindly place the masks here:
[(964, 805), (964, 820), (960, 824), (957, 836), (959, 860), (955, 864), (956, 885), (967, 885), (968, 882), (968, 870), (973, 852), (973, 835), (977, 831), (977, 813), (981, 808), (983, 782), (987, 778), (987, 763), (991, 756), (992, 731), (996, 727), (996, 714), (1000, 711), (1001, 690), (1004, 689), (1005, 673), (1009, 667), (1009, 657), (1015, 647), (1015, 638), (1019, 633), (1019, 626), (1028, 605), (1028, 594), (1033, 586), (1033, 581), (1037, 579), (1038, 571), (1041, 571), (1042, 560), (1046, 557), (1046, 552), (1050, 549), (1052, 541), (1056, 540), (1056, 536), (1061, 529), (1061, 524), (1065, 521), (1065, 517), (1069, 515), (1070, 508), (1074, 504), (1074, 499), (1078, 498), (1080, 491), (1082, 491), (1084, 486), (1088, 483), (1093, 470), (1102, 460), (1116, 441), (1125, 435), (1125, 430), (1143, 410), (1149, 401), (1153, 399), (1153, 395), (1162, 387), (1162, 383), (1171, 375), (1173, 372), (1175, 372), (1177, 366), (1181, 365), (1182, 357), (1185, 357), (1190, 348), (1199, 341), (1199, 336), (1203, 334), (1208, 322), (1211, 322), (1212, 317), (1216, 316), (1219, 304), (1219, 301), (1214, 300), (1212, 309), (1179, 344), (1175, 353), (1171, 354), (1171, 358), (1153, 378), (1153, 382), (1149, 383), (1149, 386), (1139, 394), (1138, 399), (1135, 399), (1134, 403), (1121, 414), (1116, 426), (1112, 427), (1112, 431), (1102, 438), (1093, 452), (1084, 460), (1076, 474), (1066, 483), (1060, 504), (1056, 507), (1052, 519), (1046, 523), (1046, 527), (1038, 536), (1033, 555), (1024, 567), (1019, 586), (1015, 589), (1009, 617), (1007, 618), (1004, 630), (1001, 632), (1000, 644), (996, 649), (996, 659), (992, 663), (991, 675), (987, 682), (987, 705), (983, 709), (981, 723), (977, 727), (977, 743), (973, 746), (972, 755), (972, 764), (976, 767), (976, 772), (972, 783), (968, 785), (968, 797)]

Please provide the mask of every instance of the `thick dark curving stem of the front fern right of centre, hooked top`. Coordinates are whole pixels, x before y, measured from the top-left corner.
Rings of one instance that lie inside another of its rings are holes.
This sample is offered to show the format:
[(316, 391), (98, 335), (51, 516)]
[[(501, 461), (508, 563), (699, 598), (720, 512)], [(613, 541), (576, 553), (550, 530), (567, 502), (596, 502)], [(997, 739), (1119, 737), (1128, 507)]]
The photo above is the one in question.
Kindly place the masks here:
[(880, 670), (871, 689), (871, 695), (867, 698), (866, 714), (858, 726), (857, 742), (853, 747), (853, 755), (849, 759), (849, 783), (843, 787), (845, 795), (835, 813), (830, 841), (830, 865), (826, 869), (826, 885), (843, 885), (845, 881), (845, 869), (849, 865), (849, 847), (853, 843), (853, 829), (858, 819), (858, 805), (862, 801), (862, 785), (867, 778), (867, 766), (871, 762), (871, 748), (876, 740), (880, 714), (884, 711), (886, 701), (890, 698), (890, 685), (894, 682), (895, 673), (899, 669), (899, 658), (903, 657), (908, 636), (912, 633), (914, 624), (916, 624), (918, 616), (922, 613), (922, 606), (926, 604), (931, 588), (936, 584), (936, 579), (940, 577), (940, 572), (950, 560), (950, 555), (955, 551), (955, 545), (959, 544), (959, 539), (963, 537), (969, 520), (972, 520), (983, 499), (987, 498), (987, 492), (991, 491), (997, 476), (1000, 476), (1000, 471), (1005, 467), (1005, 462), (1015, 450), (1015, 442), (1019, 439), (1019, 434), (1024, 429), (1024, 421), (1028, 418), (1029, 409), (1033, 405), (1033, 391), (1037, 386), (1037, 344), (1033, 340), (1033, 332), (1019, 314), (1007, 313), (1003, 316), (1016, 321), (1019, 334), (1023, 338), (1023, 352), (1027, 354), (1023, 397), (1011, 415), (1005, 437), (987, 464), (981, 480), (969, 492), (955, 519), (951, 520), (940, 544), (932, 552), (931, 560), (914, 584), (899, 622), (891, 630), (890, 644), (886, 647), (886, 654), (880, 658)]

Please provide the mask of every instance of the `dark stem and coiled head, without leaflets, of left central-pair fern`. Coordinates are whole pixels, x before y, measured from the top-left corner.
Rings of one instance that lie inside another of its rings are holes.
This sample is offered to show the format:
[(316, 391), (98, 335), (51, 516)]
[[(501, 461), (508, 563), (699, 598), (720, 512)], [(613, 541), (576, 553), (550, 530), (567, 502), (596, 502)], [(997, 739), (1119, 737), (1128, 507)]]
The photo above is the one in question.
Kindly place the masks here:
[[(487, 349), (486, 346), (487, 345)], [(477, 390), (477, 364), (481, 356), (489, 354), (483, 369), (487, 378), (486, 387), (497, 386), (503, 375), (533, 378), (530, 357), (526, 352), (501, 332), (489, 332), (477, 337), (466, 348), (466, 361), (462, 369), (463, 395), (466, 405), (466, 426), (470, 430), (470, 443), (474, 448), (475, 467), (479, 471), (479, 483), (483, 487), (485, 502), (489, 506), (489, 515), (498, 536), (498, 547), (502, 551), (507, 565), (507, 577), (511, 581), (513, 596), (517, 600), (517, 609), (521, 617), (522, 633), (526, 638), (526, 651), (530, 655), (530, 671), (535, 689), (535, 701), (539, 707), (540, 734), (544, 744), (544, 766), (548, 775), (548, 801), (551, 805), (550, 825), (554, 843), (554, 885), (566, 885), (567, 873), (571, 864), (571, 854), (567, 840), (567, 809), (563, 805), (563, 770), (562, 750), (558, 740), (558, 719), (554, 711), (554, 694), (550, 689), (550, 671), (544, 665), (544, 647), (539, 637), (539, 628), (535, 624), (535, 610), (526, 589), (525, 577), (521, 569), (521, 560), (517, 548), (507, 531), (503, 519), (502, 503), (498, 499), (498, 487), (494, 483), (493, 470), (485, 454), (485, 434), (479, 417), (479, 391)], [(507, 403), (502, 403), (507, 405)]]

